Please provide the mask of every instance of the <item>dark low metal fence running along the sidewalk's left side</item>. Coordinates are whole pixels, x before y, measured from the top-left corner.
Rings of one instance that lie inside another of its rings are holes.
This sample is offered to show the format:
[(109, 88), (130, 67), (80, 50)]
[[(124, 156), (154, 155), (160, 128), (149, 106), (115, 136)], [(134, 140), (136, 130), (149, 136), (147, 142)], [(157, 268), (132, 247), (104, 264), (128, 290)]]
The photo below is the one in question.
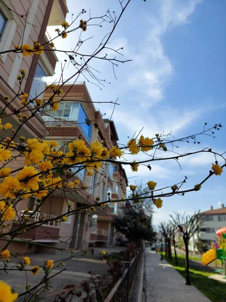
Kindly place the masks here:
[(111, 289), (104, 302), (128, 302), (131, 287), (137, 273), (138, 263), (140, 261), (142, 250), (132, 262), (126, 262), (127, 268), (122, 278), (120, 278), (116, 285)]

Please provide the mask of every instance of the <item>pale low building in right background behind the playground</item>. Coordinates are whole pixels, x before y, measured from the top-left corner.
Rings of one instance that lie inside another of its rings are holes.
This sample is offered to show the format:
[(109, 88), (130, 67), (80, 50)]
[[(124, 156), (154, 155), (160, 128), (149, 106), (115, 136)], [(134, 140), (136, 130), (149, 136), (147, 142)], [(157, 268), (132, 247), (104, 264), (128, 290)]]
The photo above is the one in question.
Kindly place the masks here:
[(214, 209), (213, 206), (210, 210), (201, 213), (204, 215), (205, 220), (199, 229), (199, 238), (211, 246), (211, 242), (218, 241), (216, 231), (223, 226), (226, 226), (226, 207), (221, 204), (220, 208)]

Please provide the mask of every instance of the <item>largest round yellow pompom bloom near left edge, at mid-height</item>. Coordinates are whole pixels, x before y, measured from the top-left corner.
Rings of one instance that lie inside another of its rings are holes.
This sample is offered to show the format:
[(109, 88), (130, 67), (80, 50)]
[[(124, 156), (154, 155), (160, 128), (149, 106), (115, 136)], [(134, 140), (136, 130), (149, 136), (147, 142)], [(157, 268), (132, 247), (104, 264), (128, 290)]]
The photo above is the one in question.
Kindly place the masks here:
[(4, 178), (3, 182), (0, 184), (0, 194), (4, 198), (16, 198), (15, 193), (21, 189), (20, 182), (16, 177), (7, 176)]

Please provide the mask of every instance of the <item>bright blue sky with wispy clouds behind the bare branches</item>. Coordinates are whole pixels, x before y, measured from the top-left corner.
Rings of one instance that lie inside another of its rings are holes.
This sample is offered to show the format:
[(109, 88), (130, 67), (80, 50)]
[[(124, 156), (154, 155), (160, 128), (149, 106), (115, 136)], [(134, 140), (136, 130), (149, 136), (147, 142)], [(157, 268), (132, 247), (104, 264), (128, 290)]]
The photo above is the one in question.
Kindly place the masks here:
[[(73, 0), (67, 0), (67, 5), (70, 12), (68, 22), (70, 14), (75, 16), (83, 8), (87, 12), (91, 9), (93, 16), (105, 13), (108, 8), (120, 12), (116, 0), (86, 0), (82, 4), (76, 3), (76, 7)], [(218, 153), (226, 150), (225, 15), (226, 3), (220, 0), (131, 1), (110, 45), (124, 47), (123, 58), (133, 61), (119, 65), (116, 70), (118, 80), (114, 79), (110, 63), (93, 61), (92, 66), (100, 70), (102, 78), (111, 84), (100, 90), (86, 83), (93, 101), (116, 101), (119, 98), (120, 106), (116, 107), (112, 119), (121, 143), (127, 143), (127, 137), (132, 137), (143, 127), (145, 136), (153, 137), (155, 133), (172, 130), (172, 134), (179, 138), (200, 132), (207, 122), (209, 126), (215, 123), (223, 126), (215, 133), (215, 139), (202, 136), (199, 145), (180, 143), (177, 144), (179, 148), (173, 150), (179, 153), (204, 147), (212, 147)], [(84, 15), (82, 19), (87, 17)], [(51, 36), (54, 29), (48, 28)], [(109, 29), (109, 24), (103, 24), (102, 28), (88, 27), (83, 39), (95, 37), (83, 44), (82, 51), (90, 53)], [(67, 39), (58, 39), (56, 48), (74, 48), (77, 35), (70, 33)], [(62, 53), (58, 57), (59, 60), (66, 58)], [(74, 67), (69, 65), (64, 78), (74, 72)], [(60, 63), (53, 80), (59, 79), (59, 74)], [(83, 80), (79, 78), (79, 81)], [(106, 113), (106, 117), (111, 115), (111, 105), (96, 104), (96, 107)], [(144, 154), (128, 157), (130, 160), (145, 158)], [(203, 154), (180, 160), (182, 170), (178, 164), (167, 161), (153, 163), (151, 171), (145, 167), (140, 167), (138, 173), (130, 171), (129, 167), (126, 171), (130, 183), (153, 180), (158, 188), (182, 181), (186, 175), (188, 180), (184, 188), (192, 188), (208, 175), (214, 161), (213, 156)], [(217, 208), (219, 202), (226, 205), (225, 175), (226, 171), (220, 177), (213, 176), (198, 192), (164, 198), (164, 206), (154, 213), (154, 223), (168, 220), (173, 211), (191, 214), (195, 210), (209, 209), (210, 205)]]

